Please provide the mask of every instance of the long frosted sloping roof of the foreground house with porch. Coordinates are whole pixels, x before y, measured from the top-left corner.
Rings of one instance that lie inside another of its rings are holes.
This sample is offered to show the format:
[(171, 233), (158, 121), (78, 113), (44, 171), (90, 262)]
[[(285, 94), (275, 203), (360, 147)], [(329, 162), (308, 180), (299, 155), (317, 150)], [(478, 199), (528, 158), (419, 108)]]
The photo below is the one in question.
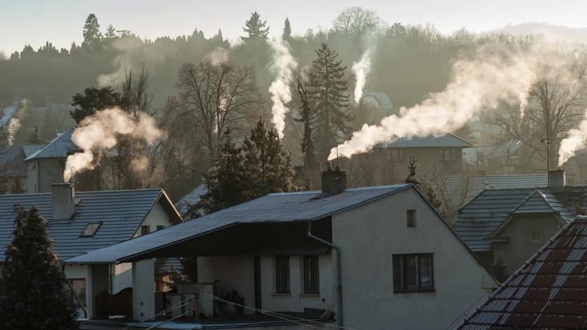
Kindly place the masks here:
[(117, 263), (238, 223), (320, 220), (410, 187), (413, 185), (354, 188), (332, 196), (323, 196), (320, 191), (268, 194), (253, 201), (198, 217), (196, 220), (82, 254), (68, 259), (67, 262), (71, 264)]

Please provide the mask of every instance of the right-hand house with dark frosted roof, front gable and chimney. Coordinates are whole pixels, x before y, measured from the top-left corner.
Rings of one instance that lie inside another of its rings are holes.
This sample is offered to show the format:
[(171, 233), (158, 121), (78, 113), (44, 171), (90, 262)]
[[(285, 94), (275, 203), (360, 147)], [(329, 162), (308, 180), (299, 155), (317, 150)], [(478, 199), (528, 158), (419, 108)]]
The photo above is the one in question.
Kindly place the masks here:
[(565, 185), (562, 170), (549, 171), (548, 187), (485, 189), (458, 210), (455, 231), (486, 265), (507, 273), (587, 210), (587, 186)]

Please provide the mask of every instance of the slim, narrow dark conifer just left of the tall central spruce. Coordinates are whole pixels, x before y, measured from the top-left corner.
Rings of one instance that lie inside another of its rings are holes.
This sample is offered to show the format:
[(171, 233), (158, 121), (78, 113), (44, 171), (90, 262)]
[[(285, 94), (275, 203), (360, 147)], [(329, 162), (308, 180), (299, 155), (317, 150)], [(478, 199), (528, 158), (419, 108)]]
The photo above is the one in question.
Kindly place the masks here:
[(312, 139), (312, 125), (314, 124), (314, 113), (307, 101), (307, 91), (302, 82), (298, 79), (298, 94), (300, 96), (300, 118), (295, 118), (296, 122), (304, 124), (304, 134), (302, 138), (302, 152), (304, 154), (305, 180), (308, 181), (308, 188), (312, 189), (314, 182), (317, 181), (318, 164), (316, 155), (314, 155), (314, 140)]

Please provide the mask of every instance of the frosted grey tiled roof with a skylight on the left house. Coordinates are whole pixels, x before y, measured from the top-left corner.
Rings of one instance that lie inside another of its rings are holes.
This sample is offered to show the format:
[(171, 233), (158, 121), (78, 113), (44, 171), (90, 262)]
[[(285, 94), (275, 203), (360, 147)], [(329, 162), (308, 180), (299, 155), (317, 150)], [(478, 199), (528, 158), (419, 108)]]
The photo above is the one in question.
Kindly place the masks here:
[[(75, 192), (75, 213), (70, 221), (52, 221), (51, 194), (0, 195), (0, 261), (13, 239), (15, 203), (24, 208), (36, 206), (53, 241), (53, 251), (64, 260), (78, 254), (126, 241), (159, 201), (168, 201), (162, 189)], [(171, 203), (170, 203), (171, 206)], [(173, 206), (171, 206), (173, 208)], [(176, 215), (177, 221), (179, 217)], [(93, 237), (80, 237), (89, 223), (101, 222)]]

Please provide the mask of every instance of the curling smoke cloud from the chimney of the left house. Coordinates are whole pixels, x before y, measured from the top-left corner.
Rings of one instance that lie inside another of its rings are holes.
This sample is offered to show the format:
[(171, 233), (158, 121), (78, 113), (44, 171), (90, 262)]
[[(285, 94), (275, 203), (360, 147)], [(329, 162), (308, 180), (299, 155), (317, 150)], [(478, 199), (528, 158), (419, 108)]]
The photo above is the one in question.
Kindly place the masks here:
[[(122, 136), (140, 138), (152, 145), (163, 136), (163, 131), (146, 113), (138, 113), (133, 119), (120, 108), (108, 108), (85, 117), (71, 134), (73, 143), (83, 151), (67, 157), (63, 173), (65, 182), (69, 182), (75, 173), (94, 168), (100, 152), (114, 148)], [(148, 159), (144, 157), (131, 161), (131, 168), (136, 170), (143, 171), (147, 165)]]

